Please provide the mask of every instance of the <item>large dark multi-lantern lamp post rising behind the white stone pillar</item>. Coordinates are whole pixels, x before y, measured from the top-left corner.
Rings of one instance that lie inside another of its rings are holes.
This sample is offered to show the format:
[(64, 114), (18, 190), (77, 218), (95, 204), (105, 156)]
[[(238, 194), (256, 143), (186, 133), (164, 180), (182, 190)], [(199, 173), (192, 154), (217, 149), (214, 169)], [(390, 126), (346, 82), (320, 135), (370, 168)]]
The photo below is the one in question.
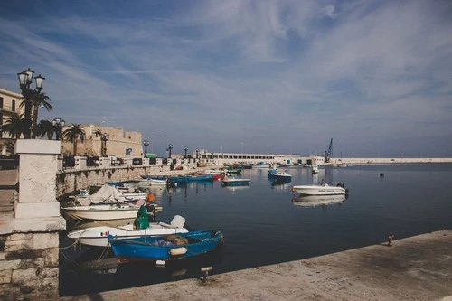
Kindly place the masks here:
[(45, 78), (40, 74), (34, 78), (36, 80), (36, 90), (30, 89), (30, 84), (33, 82), (33, 74), (30, 68), (24, 70), (20, 73), (17, 73), (19, 77), (19, 85), (22, 90), (22, 95), (24, 96), (25, 102), (25, 118), (24, 118), (24, 138), (30, 139), (32, 137), (32, 99), (33, 96), (37, 93), (41, 93), (42, 83)]

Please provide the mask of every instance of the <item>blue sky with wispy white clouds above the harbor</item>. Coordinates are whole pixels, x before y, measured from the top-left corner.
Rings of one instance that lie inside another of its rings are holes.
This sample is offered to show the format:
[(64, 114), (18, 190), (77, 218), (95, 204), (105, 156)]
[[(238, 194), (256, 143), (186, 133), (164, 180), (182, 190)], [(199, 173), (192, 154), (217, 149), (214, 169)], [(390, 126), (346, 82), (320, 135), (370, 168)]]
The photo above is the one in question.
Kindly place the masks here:
[(0, 2), (0, 88), (164, 156), (452, 156), (452, 1)]

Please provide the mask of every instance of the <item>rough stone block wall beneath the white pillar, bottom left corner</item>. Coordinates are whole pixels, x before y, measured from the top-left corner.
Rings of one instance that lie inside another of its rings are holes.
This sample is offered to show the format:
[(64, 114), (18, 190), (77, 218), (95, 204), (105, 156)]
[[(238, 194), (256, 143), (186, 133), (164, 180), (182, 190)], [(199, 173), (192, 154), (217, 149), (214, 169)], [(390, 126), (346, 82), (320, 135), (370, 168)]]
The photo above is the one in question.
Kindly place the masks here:
[(58, 299), (58, 232), (0, 236), (0, 299)]

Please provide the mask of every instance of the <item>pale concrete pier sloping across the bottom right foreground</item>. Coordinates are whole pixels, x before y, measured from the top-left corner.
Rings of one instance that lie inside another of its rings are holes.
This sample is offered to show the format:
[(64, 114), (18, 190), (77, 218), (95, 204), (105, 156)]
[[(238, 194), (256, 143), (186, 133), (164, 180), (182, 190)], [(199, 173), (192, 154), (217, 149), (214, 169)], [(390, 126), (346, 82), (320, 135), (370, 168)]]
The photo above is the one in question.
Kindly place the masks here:
[(452, 230), (391, 245), (60, 300), (452, 300)]

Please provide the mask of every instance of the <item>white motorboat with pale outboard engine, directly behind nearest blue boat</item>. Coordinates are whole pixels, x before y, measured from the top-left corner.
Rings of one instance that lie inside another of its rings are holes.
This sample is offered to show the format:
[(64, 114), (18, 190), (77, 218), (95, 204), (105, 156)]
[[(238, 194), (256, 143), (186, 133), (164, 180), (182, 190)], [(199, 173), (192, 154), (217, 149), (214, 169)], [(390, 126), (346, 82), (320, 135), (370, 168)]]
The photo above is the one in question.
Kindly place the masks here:
[(133, 224), (119, 227), (106, 224), (98, 227), (73, 230), (68, 233), (68, 238), (87, 246), (108, 247), (108, 234), (115, 236), (118, 239), (130, 239), (141, 236), (186, 233), (188, 230), (184, 228), (184, 224), (185, 219), (180, 215), (175, 215), (173, 221), (169, 224), (165, 222), (151, 222), (149, 223), (148, 228), (142, 230), (134, 230)]

